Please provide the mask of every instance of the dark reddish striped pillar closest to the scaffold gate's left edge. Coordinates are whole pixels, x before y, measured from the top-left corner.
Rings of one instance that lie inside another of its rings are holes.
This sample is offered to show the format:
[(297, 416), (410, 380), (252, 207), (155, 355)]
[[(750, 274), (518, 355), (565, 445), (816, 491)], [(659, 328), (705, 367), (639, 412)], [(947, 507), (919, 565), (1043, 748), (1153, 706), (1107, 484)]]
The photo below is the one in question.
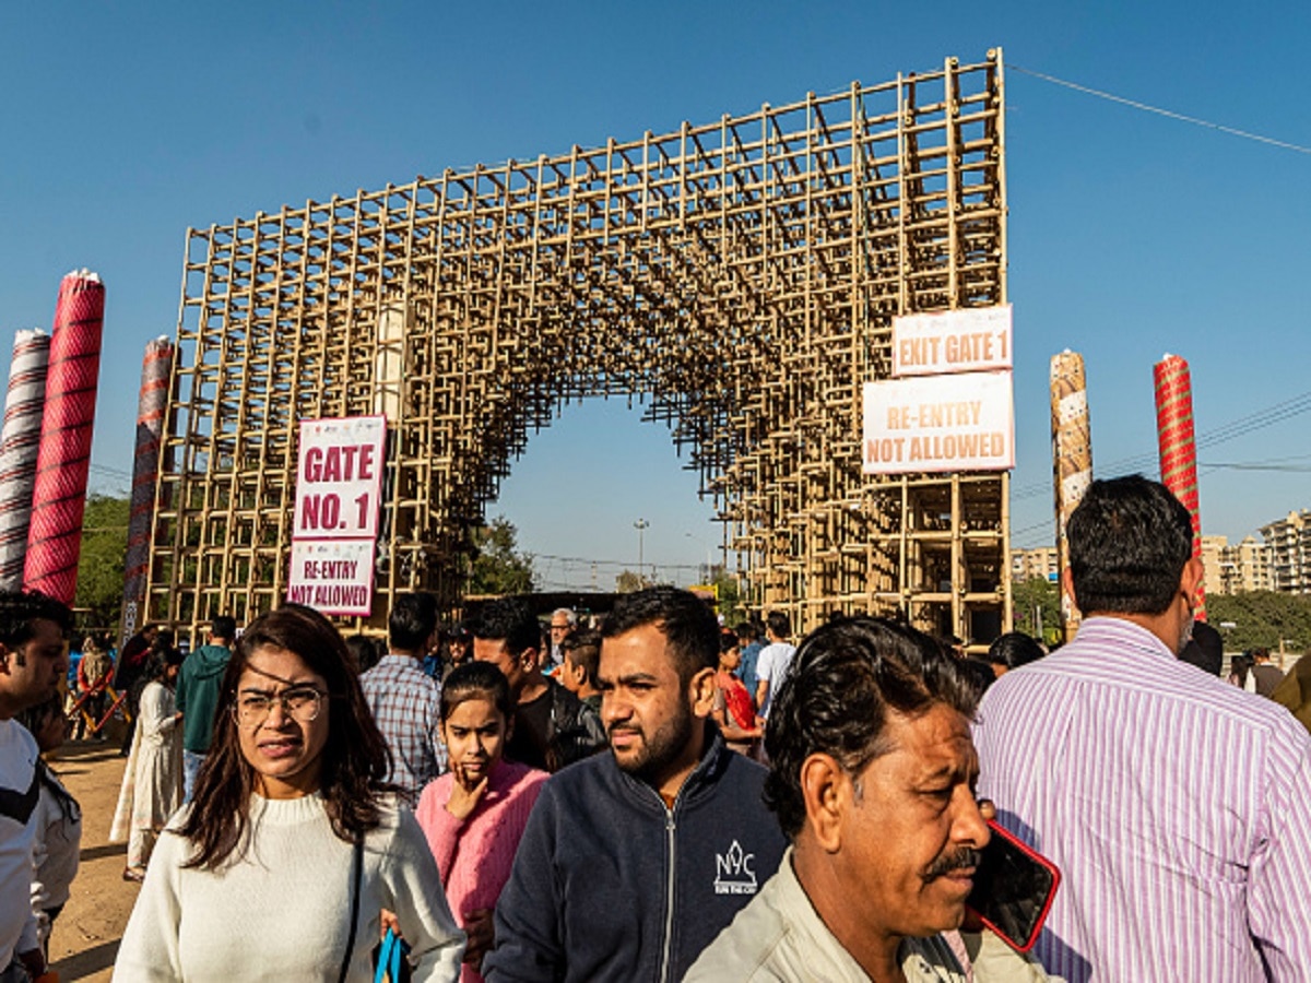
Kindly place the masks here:
[(155, 480), (159, 477), (160, 439), (173, 376), (173, 343), (164, 337), (146, 346), (142, 392), (136, 400), (136, 455), (132, 460), (132, 511), (127, 520), (127, 557), (123, 561), (122, 644), (136, 632), (146, 602), (146, 569), (155, 528)]

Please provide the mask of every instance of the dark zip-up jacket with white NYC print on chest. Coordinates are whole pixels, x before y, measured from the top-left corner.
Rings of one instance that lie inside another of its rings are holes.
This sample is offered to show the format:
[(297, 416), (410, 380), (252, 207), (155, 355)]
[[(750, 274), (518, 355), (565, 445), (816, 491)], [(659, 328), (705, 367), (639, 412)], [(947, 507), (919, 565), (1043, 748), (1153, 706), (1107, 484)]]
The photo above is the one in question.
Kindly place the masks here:
[(777, 869), (766, 771), (708, 748), (673, 809), (603, 752), (553, 776), (496, 908), (488, 983), (674, 983)]

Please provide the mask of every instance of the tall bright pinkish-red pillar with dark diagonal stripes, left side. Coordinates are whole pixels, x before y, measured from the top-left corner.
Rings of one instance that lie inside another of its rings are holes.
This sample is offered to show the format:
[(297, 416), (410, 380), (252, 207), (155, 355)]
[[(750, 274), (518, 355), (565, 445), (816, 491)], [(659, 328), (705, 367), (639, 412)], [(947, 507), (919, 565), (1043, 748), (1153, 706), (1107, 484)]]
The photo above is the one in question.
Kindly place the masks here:
[(88, 270), (64, 277), (50, 339), (24, 582), (66, 604), (73, 603), (77, 591), (104, 316), (100, 277)]

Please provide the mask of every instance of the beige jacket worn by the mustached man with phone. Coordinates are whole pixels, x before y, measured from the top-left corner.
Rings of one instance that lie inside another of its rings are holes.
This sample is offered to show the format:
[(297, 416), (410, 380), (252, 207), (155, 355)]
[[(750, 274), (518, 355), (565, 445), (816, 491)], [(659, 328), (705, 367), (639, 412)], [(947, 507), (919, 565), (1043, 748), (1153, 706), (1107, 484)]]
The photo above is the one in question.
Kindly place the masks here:
[[(1057, 980), (1012, 952), (991, 932), (965, 936), (975, 983)], [(941, 936), (906, 938), (898, 950), (909, 983), (968, 983), (969, 975)], [(815, 914), (792, 870), (792, 849), (755, 899), (738, 912), (684, 976), (684, 983), (869, 983)]]

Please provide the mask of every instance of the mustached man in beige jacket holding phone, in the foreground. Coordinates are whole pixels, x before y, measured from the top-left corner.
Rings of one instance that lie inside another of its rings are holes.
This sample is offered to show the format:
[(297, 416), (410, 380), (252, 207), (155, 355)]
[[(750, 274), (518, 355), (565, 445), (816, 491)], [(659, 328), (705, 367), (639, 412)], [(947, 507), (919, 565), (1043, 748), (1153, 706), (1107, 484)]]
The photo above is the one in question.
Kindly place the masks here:
[(1047, 979), (991, 932), (943, 935), (990, 838), (971, 693), (936, 642), (889, 621), (801, 644), (764, 733), (766, 802), (792, 847), (687, 983), (964, 983), (961, 950), (977, 983)]

